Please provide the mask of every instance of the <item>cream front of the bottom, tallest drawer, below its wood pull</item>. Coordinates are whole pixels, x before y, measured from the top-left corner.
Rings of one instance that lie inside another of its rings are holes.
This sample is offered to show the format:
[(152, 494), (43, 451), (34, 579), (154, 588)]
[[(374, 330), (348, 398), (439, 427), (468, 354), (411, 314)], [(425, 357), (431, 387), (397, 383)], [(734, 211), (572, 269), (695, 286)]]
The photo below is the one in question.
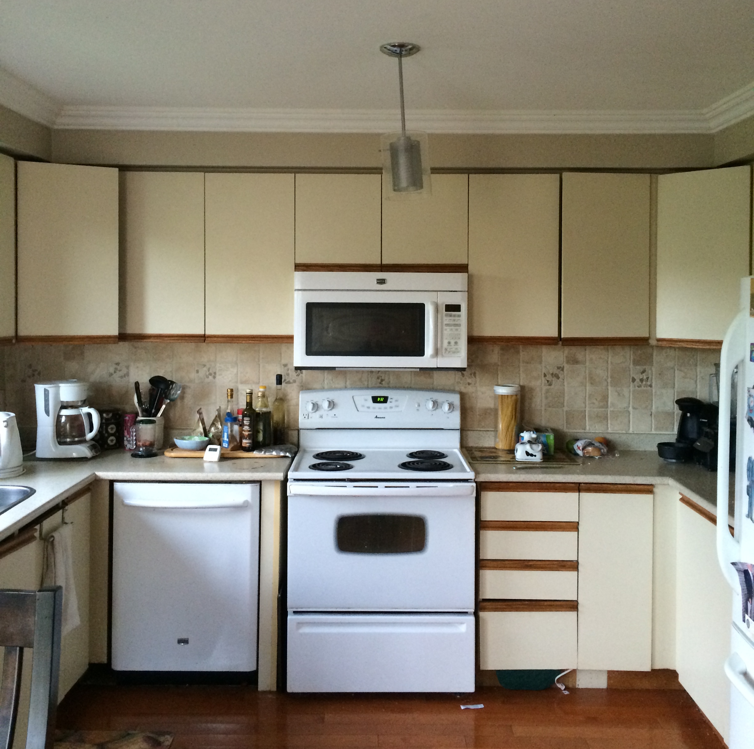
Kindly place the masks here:
[(480, 668), (576, 668), (575, 611), (480, 612)]

